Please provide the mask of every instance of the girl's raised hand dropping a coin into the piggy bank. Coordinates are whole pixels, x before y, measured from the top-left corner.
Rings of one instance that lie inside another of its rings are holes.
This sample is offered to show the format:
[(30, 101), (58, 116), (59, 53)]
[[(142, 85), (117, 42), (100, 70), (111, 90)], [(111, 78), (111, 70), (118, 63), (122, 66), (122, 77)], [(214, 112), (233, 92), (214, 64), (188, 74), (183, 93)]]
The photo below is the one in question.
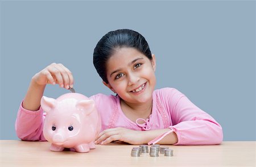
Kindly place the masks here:
[(73, 87), (73, 76), (71, 71), (63, 64), (53, 62), (46, 68), (36, 73), (32, 78), (37, 85), (59, 84), (60, 87)]

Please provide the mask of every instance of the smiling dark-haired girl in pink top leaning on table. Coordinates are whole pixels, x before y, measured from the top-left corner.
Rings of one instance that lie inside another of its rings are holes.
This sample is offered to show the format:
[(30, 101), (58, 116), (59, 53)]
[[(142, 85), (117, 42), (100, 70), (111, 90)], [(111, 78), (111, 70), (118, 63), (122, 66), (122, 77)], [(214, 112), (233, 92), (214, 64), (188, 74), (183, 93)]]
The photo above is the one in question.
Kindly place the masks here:
[[(138, 145), (221, 143), (220, 124), (184, 94), (170, 87), (154, 90), (155, 55), (138, 32), (116, 30), (103, 36), (94, 49), (93, 64), (104, 85), (117, 94), (90, 97), (102, 119), (96, 144), (117, 140)], [(22, 140), (46, 140), (40, 99), (47, 84), (69, 89), (72, 73), (53, 63), (32, 77), (15, 123)]]

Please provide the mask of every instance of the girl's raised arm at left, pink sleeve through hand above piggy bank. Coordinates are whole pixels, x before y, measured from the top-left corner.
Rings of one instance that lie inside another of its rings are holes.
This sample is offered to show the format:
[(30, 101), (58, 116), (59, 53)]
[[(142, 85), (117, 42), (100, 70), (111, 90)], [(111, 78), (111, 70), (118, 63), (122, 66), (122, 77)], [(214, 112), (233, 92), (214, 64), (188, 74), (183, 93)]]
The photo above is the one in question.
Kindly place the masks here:
[(22, 140), (45, 140), (40, 100), (47, 84), (59, 84), (60, 87), (69, 89), (73, 87), (72, 73), (64, 65), (52, 63), (32, 77), (15, 122), (16, 133)]

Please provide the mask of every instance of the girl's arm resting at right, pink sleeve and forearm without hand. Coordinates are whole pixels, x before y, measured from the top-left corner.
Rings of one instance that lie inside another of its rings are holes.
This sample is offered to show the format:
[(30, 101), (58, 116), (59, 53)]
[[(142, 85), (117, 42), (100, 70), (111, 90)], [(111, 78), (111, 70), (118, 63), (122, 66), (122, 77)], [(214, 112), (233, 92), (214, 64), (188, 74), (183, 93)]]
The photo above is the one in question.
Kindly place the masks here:
[(222, 142), (220, 124), (180, 91), (165, 88), (159, 91), (159, 97), (168, 111), (171, 126), (163, 130), (143, 131), (148, 144), (210, 145)]

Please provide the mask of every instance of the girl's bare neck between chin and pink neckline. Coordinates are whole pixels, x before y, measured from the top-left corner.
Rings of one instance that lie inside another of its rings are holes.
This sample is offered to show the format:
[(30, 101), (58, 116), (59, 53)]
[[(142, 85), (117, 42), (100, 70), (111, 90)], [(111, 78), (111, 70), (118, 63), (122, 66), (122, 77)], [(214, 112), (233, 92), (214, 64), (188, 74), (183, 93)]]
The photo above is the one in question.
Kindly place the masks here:
[(152, 112), (152, 99), (151, 101), (142, 104), (131, 104), (120, 98), (120, 105), (123, 114), (133, 122), (136, 122), (138, 118), (149, 118)]

